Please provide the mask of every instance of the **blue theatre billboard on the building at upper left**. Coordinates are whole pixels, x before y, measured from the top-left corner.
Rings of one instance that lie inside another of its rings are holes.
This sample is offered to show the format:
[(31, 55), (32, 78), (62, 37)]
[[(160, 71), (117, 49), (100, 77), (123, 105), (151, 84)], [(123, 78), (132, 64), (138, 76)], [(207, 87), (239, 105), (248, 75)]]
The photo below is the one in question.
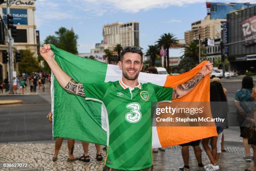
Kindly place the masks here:
[[(26, 9), (10, 9), (13, 16), (13, 24), (28, 25), (28, 14)], [(6, 21), (6, 8), (3, 8), (3, 19)]]

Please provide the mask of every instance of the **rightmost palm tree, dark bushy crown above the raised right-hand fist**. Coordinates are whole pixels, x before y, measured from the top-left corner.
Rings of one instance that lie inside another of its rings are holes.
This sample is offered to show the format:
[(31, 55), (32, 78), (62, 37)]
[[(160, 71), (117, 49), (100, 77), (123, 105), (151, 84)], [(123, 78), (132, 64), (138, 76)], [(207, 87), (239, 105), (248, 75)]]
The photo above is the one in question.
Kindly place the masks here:
[[(199, 47), (197, 42), (191, 42), (189, 46), (184, 47), (184, 57), (192, 58), (196, 63), (199, 61)], [(205, 56), (205, 48), (201, 46), (201, 57)]]

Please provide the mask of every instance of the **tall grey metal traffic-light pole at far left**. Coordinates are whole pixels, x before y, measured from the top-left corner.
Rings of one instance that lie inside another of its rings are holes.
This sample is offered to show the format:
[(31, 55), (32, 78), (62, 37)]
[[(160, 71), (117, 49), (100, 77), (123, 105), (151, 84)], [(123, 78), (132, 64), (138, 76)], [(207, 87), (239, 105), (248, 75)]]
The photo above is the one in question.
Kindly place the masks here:
[[(14, 1), (6, 0), (6, 15), (10, 15), (10, 5), (13, 4)], [(7, 17), (6, 17), (7, 18)], [(9, 80), (10, 80), (10, 94), (13, 94), (13, 53), (12, 53), (12, 44), (13, 44), (13, 37), (11, 34), (11, 28), (8, 28), (7, 34), (7, 42), (8, 42), (8, 54), (9, 54)]]

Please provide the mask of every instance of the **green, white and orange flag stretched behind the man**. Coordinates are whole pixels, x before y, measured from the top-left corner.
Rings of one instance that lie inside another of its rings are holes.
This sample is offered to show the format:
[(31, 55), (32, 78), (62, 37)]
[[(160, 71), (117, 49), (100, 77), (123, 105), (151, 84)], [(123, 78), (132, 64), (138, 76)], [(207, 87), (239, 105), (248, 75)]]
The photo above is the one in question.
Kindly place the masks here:
[[(65, 52), (51, 45), (55, 60), (61, 68), (77, 82), (109, 82), (122, 78), (122, 71), (118, 66), (105, 64), (92, 59), (85, 59)], [(139, 74), (142, 83), (151, 82), (165, 87), (177, 85), (191, 79), (205, 65), (197, 65), (189, 72), (165, 76), (158, 74)], [(210, 101), (210, 76), (205, 77), (192, 92), (175, 99), (181, 102), (209, 102)], [(107, 144), (106, 116), (100, 102), (85, 101), (83, 97), (67, 93), (51, 77), (51, 108), (53, 112), (53, 136), (63, 137), (91, 143)], [(217, 136), (216, 128), (209, 127), (182, 127), (182, 126), (152, 126), (153, 147), (166, 147), (183, 144), (210, 136)]]

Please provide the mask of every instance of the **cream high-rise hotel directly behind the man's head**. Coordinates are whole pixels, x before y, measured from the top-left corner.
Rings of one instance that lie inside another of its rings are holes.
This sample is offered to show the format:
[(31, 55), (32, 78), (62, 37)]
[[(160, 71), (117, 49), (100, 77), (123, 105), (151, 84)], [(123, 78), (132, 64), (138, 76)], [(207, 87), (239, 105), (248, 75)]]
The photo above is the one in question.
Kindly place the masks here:
[(125, 46), (139, 46), (139, 22), (115, 22), (102, 27), (103, 40), (95, 44), (91, 53), (102, 53), (104, 49), (113, 49), (116, 44)]

